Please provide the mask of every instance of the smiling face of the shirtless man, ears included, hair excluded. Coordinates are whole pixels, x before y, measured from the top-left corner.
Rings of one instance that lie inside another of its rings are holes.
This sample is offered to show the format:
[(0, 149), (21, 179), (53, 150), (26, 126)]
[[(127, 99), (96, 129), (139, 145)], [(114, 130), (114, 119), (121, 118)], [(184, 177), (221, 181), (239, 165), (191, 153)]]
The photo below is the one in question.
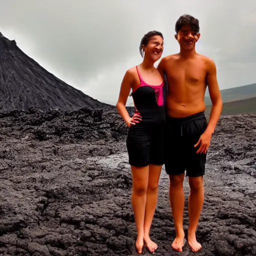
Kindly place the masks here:
[(195, 43), (199, 37), (200, 34), (195, 34), (191, 27), (188, 25), (182, 26), (177, 35), (175, 35), (175, 38), (177, 39), (180, 47), (187, 50), (193, 49), (195, 47)]

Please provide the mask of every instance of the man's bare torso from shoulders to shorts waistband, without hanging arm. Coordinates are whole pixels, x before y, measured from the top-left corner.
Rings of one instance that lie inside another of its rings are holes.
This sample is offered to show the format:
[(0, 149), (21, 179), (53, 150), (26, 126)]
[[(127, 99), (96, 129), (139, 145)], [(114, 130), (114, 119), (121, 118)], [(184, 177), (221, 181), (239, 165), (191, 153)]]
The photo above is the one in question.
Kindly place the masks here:
[(185, 117), (205, 110), (207, 60), (207, 57), (197, 53), (187, 59), (180, 54), (164, 58), (162, 69), (168, 81), (168, 116)]

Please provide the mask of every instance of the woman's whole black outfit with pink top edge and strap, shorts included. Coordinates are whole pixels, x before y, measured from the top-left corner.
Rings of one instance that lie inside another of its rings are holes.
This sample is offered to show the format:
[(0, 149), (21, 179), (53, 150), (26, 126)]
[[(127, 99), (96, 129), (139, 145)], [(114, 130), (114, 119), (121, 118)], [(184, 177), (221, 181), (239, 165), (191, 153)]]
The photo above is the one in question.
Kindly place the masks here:
[[(137, 68), (137, 66), (136, 66)], [(137, 69), (140, 85), (132, 92), (136, 112), (141, 121), (131, 125), (126, 145), (129, 164), (147, 166), (164, 163), (164, 82), (159, 85), (145, 83)]]

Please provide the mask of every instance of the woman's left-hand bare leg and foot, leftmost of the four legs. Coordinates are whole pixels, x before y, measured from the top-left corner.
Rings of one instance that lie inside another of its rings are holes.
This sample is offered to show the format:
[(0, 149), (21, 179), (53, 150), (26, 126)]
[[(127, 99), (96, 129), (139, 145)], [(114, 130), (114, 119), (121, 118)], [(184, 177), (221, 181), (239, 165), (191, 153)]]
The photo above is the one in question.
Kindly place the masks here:
[(142, 253), (143, 237), (144, 237), (144, 216), (146, 205), (146, 188), (148, 183), (148, 169), (146, 167), (131, 166), (132, 173), (132, 193), (131, 204), (134, 212), (134, 218), (137, 228), (136, 250)]

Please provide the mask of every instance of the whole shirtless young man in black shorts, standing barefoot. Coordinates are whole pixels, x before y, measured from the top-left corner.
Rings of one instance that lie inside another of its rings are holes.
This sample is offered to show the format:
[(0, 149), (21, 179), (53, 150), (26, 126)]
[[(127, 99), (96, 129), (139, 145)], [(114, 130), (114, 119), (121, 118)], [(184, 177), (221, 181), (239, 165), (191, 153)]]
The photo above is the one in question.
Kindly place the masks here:
[[(160, 61), (158, 70), (166, 75), (165, 170), (169, 175), (169, 197), (176, 237), (171, 247), (182, 251), (184, 243), (183, 209), (184, 171), (188, 176), (189, 227), (187, 242), (192, 251), (201, 249), (195, 231), (203, 205), (203, 175), (206, 151), (218, 122), (222, 99), (214, 62), (195, 51), (200, 37), (198, 19), (182, 15), (175, 24), (175, 38), (180, 51)], [(204, 93), (208, 85), (212, 108), (208, 123), (204, 116)]]

